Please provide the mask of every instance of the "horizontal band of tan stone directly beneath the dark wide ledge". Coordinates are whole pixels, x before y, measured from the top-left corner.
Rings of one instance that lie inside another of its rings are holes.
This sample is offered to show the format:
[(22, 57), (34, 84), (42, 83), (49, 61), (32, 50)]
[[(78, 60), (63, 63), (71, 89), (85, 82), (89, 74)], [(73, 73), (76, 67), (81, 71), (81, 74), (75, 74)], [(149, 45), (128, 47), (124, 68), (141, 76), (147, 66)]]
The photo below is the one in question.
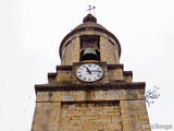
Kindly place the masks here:
[(37, 102), (86, 102), (145, 99), (142, 90), (99, 90), (99, 91), (60, 91), (38, 92)]

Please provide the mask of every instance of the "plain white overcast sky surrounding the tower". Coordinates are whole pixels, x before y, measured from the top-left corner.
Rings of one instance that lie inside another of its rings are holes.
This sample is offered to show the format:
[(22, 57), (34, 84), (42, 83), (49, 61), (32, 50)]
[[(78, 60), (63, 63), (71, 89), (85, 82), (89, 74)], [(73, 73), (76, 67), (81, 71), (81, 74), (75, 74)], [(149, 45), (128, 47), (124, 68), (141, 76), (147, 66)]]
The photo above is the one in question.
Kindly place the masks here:
[(60, 43), (83, 22), (89, 4), (120, 40), (120, 61), (134, 82), (146, 82), (147, 91), (160, 87), (160, 98), (148, 107), (150, 123), (174, 129), (173, 0), (0, 0), (1, 131), (30, 131), (34, 86), (55, 72)]

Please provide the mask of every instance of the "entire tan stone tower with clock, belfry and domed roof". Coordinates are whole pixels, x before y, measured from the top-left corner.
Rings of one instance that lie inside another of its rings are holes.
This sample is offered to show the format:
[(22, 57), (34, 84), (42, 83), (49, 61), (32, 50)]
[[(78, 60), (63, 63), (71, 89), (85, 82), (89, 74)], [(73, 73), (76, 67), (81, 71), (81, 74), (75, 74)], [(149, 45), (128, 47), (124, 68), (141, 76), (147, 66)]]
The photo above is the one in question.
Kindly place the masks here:
[(32, 131), (150, 131), (146, 83), (124, 71), (120, 41), (95, 16), (84, 17), (59, 51), (57, 72), (35, 85)]

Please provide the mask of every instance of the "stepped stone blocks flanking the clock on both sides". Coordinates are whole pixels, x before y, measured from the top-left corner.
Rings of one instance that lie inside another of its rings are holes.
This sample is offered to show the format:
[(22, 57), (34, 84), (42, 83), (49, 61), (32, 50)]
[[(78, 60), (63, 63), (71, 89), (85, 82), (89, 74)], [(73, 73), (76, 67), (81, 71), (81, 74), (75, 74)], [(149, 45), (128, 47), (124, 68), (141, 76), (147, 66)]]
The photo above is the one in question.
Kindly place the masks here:
[[(88, 62), (83, 62), (88, 63)], [(57, 66), (55, 73), (48, 73), (49, 84), (54, 84), (59, 82), (59, 79), (64, 76), (72, 79), (75, 83), (82, 83), (77, 81), (76, 69), (83, 64), (82, 62), (75, 62), (73, 66)], [(108, 83), (108, 82), (132, 82), (133, 72), (124, 71), (123, 64), (107, 64), (107, 62), (92, 62), (99, 64), (103, 69), (103, 76), (97, 83)], [(84, 83), (84, 82), (83, 82)]]

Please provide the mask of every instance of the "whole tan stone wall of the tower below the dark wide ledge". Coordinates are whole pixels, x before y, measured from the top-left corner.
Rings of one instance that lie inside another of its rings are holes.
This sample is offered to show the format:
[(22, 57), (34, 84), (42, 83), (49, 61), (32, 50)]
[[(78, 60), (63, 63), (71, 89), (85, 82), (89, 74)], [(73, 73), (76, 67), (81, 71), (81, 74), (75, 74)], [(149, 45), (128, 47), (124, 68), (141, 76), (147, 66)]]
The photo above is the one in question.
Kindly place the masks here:
[(90, 88), (37, 92), (33, 131), (140, 131), (136, 124), (149, 124), (144, 90)]

